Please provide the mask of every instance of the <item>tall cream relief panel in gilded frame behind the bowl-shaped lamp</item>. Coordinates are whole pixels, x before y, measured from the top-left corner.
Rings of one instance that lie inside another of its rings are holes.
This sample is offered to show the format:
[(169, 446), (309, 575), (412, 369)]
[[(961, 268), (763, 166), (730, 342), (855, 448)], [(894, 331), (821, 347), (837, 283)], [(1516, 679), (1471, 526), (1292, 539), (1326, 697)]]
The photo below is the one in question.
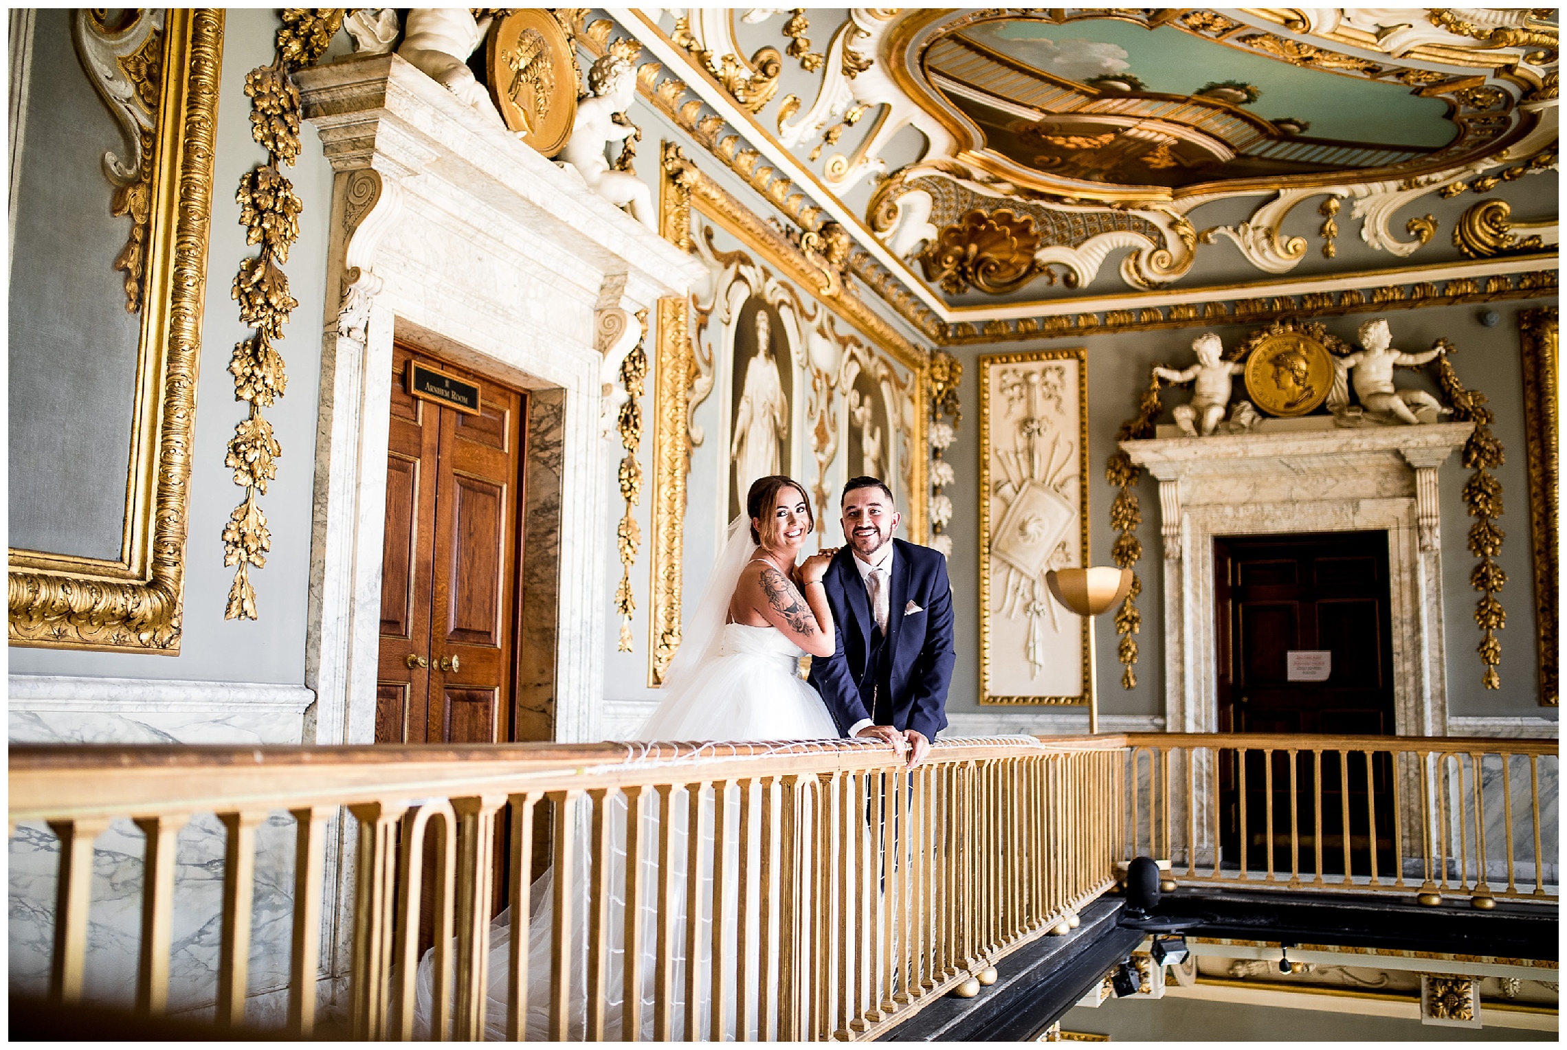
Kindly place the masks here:
[(1086, 349), (981, 354), (979, 704), (1089, 704), (1091, 624), (1055, 603), (1044, 580), (1089, 564), (1087, 492)]

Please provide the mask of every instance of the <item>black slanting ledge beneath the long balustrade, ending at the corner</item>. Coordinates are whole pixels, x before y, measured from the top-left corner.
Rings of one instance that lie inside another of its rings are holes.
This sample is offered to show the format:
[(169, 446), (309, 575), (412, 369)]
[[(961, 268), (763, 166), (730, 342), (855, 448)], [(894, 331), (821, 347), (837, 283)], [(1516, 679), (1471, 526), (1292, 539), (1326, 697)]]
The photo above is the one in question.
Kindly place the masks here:
[(1124, 901), (1102, 896), (1064, 937), (1044, 936), (997, 964), (997, 983), (975, 998), (940, 998), (878, 1042), (1019, 1042), (1059, 1020), (1142, 943), (1138, 929), (1116, 925)]

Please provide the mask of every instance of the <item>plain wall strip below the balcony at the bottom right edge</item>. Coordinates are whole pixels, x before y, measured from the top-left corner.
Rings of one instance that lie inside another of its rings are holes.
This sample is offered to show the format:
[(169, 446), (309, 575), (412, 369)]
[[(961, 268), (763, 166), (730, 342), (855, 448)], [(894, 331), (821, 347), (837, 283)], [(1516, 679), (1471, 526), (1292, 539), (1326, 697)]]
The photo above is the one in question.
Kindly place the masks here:
[[(1481, 1011), (1484, 1023), (1486, 1012)], [(1556, 1042), (1554, 1031), (1525, 1028), (1446, 1028), (1409, 1017), (1329, 1014), (1283, 1006), (1208, 1003), (1191, 998), (1113, 998), (1092, 1009), (1077, 1006), (1061, 1019), (1062, 1031), (1109, 1036), (1113, 1042)]]

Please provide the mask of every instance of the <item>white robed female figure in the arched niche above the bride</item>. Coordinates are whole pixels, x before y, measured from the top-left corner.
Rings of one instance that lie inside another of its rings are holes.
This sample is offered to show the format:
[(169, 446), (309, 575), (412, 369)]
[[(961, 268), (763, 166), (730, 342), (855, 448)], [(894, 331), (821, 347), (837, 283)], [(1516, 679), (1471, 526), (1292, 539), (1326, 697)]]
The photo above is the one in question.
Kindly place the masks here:
[[(744, 315), (749, 313), (749, 324)], [(779, 367), (769, 309), (762, 301), (747, 302), (735, 331), (735, 376), (744, 379), (735, 398), (729, 454), (735, 465), (732, 492), (747, 492), (757, 478), (788, 472), (788, 389), (790, 368)], [(785, 354), (785, 362), (788, 356)]]

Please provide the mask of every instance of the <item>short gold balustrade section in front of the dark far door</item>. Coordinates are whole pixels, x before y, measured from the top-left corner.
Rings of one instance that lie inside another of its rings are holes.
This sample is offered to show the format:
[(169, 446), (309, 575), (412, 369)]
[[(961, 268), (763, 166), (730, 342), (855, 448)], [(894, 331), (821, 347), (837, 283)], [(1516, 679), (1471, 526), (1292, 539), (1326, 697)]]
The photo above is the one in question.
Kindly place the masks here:
[(1554, 740), (1124, 741), (1122, 853), (1171, 860), (1182, 884), (1558, 901)]

